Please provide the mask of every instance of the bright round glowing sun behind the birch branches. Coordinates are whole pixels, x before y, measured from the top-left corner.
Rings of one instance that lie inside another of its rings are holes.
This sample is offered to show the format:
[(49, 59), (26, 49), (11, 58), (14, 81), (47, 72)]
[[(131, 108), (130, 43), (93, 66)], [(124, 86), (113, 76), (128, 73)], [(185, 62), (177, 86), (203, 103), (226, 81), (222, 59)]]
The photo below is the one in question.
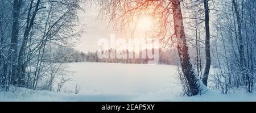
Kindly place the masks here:
[(139, 31), (148, 31), (152, 28), (152, 19), (149, 16), (143, 16), (137, 22), (137, 29)]

